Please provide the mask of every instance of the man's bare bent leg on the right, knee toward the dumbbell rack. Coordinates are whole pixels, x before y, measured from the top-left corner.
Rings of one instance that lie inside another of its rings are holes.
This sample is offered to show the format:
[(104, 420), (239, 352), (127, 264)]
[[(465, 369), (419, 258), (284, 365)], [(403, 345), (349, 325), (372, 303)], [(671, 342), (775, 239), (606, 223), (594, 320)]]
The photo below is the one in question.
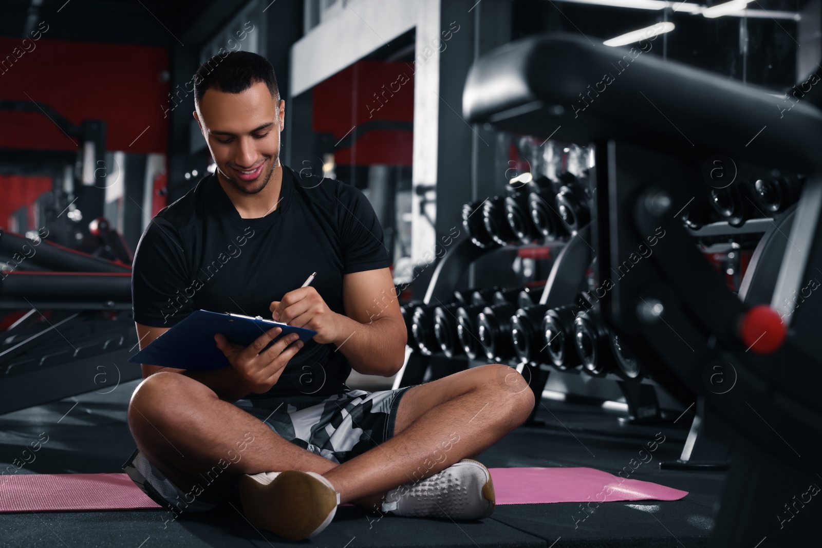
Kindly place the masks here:
[(342, 503), (374, 504), (388, 490), (479, 454), (520, 426), (533, 405), (533, 392), (510, 366), (460, 371), (409, 389), (393, 438), (322, 474)]

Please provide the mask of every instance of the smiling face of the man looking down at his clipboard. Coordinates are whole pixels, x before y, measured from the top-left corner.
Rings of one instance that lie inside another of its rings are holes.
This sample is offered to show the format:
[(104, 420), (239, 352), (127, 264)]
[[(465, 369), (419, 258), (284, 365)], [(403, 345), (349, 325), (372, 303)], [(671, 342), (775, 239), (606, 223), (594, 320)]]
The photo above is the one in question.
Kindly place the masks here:
[(285, 101), (275, 101), (256, 82), (238, 94), (207, 90), (194, 113), (219, 176), (245, 194), (265, 188), (279, 165)]

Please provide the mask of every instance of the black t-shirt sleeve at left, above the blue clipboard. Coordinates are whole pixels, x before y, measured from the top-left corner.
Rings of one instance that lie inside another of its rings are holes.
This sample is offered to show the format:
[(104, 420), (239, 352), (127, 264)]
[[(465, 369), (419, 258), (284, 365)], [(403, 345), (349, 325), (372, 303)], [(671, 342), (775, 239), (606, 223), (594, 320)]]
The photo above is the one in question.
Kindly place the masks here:
[(177, 229), (161, 217), (151, 219), (132, 265), (134, 321), (152, 327), (177, 324), (195, 311), (187, 296), (191, 286)]

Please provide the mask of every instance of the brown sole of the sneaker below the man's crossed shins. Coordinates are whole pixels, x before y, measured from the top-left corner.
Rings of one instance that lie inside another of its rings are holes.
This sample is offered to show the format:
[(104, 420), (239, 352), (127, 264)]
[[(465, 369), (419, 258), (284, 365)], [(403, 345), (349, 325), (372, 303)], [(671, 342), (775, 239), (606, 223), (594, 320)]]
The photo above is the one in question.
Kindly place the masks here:
[(325, 529), (339, 504), (334, 486), (316, 472), (280, 472), (268, 485), (243, 475), (238, 487), (248, 522), (291, 541), (311, 538)]

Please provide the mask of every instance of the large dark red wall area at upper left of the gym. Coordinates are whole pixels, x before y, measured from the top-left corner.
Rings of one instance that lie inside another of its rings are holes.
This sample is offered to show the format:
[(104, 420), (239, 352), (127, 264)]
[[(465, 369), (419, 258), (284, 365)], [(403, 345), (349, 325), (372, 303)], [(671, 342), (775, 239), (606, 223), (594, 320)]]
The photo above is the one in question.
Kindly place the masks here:
[[(27, 43), (30, 51), (25, 51), (21, 42), (0, 37), (0, 61), (6, 61), (0, 68), (0, 99), (33, 99), (76, 124), (103, 119), (108, 150), (167, 153), (169, 84), (160, 81), (161, 72), (169, 70), (164, 48), (43, 37), (33, 49)], [(7, 56), (15, 59), (11, 67)], [(0, 111), (0, 127), (0, 148), (76, 150), (80, 144), (42, 113)]]

